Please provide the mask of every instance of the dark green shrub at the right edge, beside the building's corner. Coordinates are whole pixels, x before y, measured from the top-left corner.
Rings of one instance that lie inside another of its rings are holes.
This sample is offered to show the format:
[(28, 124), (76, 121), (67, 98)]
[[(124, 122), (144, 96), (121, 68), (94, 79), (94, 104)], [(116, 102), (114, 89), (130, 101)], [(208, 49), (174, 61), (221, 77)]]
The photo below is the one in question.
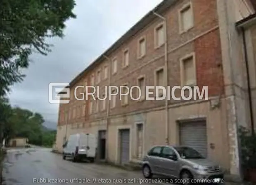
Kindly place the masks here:
[(245, 128), (239, 128), (241, 142), (242, 164), (245, 169), (256, 169), (256, 135)]

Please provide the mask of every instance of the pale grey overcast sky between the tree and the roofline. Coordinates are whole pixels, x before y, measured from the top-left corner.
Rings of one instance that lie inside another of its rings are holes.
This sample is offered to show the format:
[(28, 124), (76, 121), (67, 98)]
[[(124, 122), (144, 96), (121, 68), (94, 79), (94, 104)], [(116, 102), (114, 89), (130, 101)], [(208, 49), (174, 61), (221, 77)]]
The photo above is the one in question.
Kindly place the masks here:
[(76, 19), (66, 22), (64, 39), (52, 39), (47, 56), (31, 55), (26, 78), (10, 93), (13, 106), (57, 122), (58, 105), (48, 102), (50, 82), (70, 82), (161, 0), (76, 0)]

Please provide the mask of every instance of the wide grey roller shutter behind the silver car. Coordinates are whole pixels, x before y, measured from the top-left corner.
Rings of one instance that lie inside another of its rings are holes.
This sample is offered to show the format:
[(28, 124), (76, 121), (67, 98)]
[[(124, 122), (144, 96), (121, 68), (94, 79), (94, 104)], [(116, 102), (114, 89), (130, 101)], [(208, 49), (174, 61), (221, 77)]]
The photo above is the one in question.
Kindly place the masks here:
[(180, 123), (180, 144), (190, 146), (207, 157), (206, 122)]

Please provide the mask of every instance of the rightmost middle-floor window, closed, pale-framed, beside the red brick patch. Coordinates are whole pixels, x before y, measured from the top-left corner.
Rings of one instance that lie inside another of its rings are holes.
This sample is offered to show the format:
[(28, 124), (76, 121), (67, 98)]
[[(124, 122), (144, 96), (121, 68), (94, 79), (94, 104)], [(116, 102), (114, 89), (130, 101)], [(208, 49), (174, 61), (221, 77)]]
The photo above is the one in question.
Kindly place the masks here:
[(195, 86), (196, 85), (196, 69), (194, 54), (188, 55), (181, 59), (181, 85)]

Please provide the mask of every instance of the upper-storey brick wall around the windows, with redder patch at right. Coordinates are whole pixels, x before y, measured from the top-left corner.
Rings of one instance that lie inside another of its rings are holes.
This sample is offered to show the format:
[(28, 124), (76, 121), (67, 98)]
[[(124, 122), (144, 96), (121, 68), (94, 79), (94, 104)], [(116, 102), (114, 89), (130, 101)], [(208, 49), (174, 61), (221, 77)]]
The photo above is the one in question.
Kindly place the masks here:
[[(168, 71), (169, 86), (180, 85), (180, 58), (184, 55), (195, 52), (197, 84), (198, 86), (208, 86), (209, 96), (218, 95), (223, 86), (223, 77), (221, 70), (221, 50), (219, 40), (218, 16), (216, 8), (216, 0), (192, 0), (192, 8), (194, 14), (194, 27), (183, 34), (179, 33), (179, 10), (189, 0), (179, 0), (175, 5), (170, 7), (163, 15), (167, 18), (168, 30)], [(154, 86), (154, 71), (159, 67), (164, 67), (164, 45), (158, 49), (154, 48), (154, 29), (162, 23), (162, 20), (156, 17), (150, 25), (137, 32), (136, 35), (128, 39), (118, 49), (113, 51), (108, 57), (117, 58), (117, 73), (111, 76), (111, 85), (121, 86), (128, 83), (128, 86), (137, 85), (137, 78), (141, 75), (145, 76), (146, 86)], [(209, 31), (211, 30), (211, 31)], [(209, 31), (209, 32), (208, 32)], [(146, 38), (146, 55), (143, 58), (137, 58), (138, 40), (141, 37)], [(129, 50), (129, 66), (124, 68), (123, 51)], [(104, 60), (100, 65), (91, 70), (88, 75), (88, 85), (90, 84), (90, 75), (95, 75), (98, 69), (101, 69), (103, 76), (104, 66), (108, 60)], [(111, 69), (109, 67), (109, 72)], [(79, 84), (80, 81), (77, 83)], [(104, 88), (108, 85), (107, 80), (101, 80), (98, 86)], [(100, 93), (102, 94), (102, 93)], [(135, 93), (133, 93), (135, 97)], [(110, 115), (125, 114), (135, 111), (142, 111), (154, 107), (164, 106), (162, 101), (133, 101), (129, 99), (127, 106), (122, 106), (119, 98), (116, 100), (116, 107), (110, 109)], [(88, 115), (89, 101), (86, 102), (87, 114), (83, 119), (91, 121), (104, 119), (106, 111), (99, 111)], [(179, 102), (175, 102), (179, 103)], [(71, 102), (68, 106), (73, 106), (78, 102)], [(68, 109), (68, 108), (67, 108)], [(99, 109), (100, 110), (100, 109)], [(76, 119), (73, 121), (82, 121)]]

